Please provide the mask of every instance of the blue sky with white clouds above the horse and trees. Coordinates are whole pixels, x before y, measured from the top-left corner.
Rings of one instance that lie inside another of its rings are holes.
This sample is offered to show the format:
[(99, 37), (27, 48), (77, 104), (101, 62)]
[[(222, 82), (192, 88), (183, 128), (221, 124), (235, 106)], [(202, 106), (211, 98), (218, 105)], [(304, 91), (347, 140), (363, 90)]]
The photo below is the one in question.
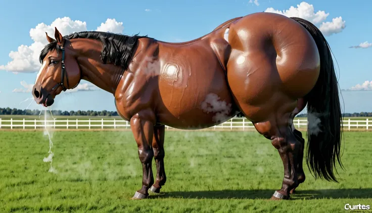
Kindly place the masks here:
[[(35, 41), (39, 46), (44, 44), (46, 39), (42, 33), (44, 29), (52, 29), (54, 26), (49, 26), (52, 23), (59, 23), (58, 29), (66, 33), (80, 29), (97, 30), (101, 26), (99, 29), (102, 30), (147, 34), (158, 40), (177, 42), (207, 34), (234, 17), (263, 11), (283, 12), (293, 7), (284, 14), (305, 16), (329, 34), (326, 38), (338, 62), (340, 87), (345, 90), (342, 92), (344, 111), (372, 111), (372, 45), (369, 44), (372, 42), (372, 17), (368, 15), (371, 1), (344, 4), (334, 0), (309, 0), (305, 3), (293, 0), (146, 0), (107, 1), (105, 4), (103, 1), (63, 1), (60, 4), (3, 1), (1, 5), (0, 107), (25, 109), (31, 103), (29, 109), (41, 108), (31, 100), (24, 101), (31, 98), (27, 90), (32, 87), (40, 66), (34, 62), (35, 54), (39, 54), (37, 45), (29, 46)], [(69, 19), (62, 20), (64, 17)], [(338, 19), (333, 21), (334, 18)], [(359, 48), (350, 48), (353, 46)], [(18, 52), (18, 55), (13, 53), (13, 57), (18, 57), (16, 61), (9, 56), (12, 51)], [(77, 91), (59, 95), (52, 109), (116, 110), (112, 94), (95, 90), (86, 81), (81, 82)]]

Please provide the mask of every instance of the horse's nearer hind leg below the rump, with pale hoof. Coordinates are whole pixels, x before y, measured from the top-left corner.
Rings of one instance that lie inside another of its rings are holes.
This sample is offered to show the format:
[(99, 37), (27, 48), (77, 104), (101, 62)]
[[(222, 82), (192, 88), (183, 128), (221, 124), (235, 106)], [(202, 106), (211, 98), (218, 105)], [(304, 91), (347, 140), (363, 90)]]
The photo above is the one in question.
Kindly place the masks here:
[(272, 116), (266, 122), (254, 123), (256, 130), (271, 140), (278, 150), (284, 165), (282, 188), (272, 195), (271, 199), (289, 199), (290, 191), (298, 186), (297, 162), (300, 143), (296, 139), (287, 116)]

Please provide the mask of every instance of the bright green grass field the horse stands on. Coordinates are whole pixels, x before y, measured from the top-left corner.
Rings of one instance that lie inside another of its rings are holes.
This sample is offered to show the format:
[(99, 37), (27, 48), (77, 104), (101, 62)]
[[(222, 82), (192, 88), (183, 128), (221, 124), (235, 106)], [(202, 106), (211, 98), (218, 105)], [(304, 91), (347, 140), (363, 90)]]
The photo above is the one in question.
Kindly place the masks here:
[(298, 194), (271, 201), (283, 163), (269, 140), (256, 132), (166, 132), (164, 194), (130, 200), (142, 185), (131, 132), (54, 132), (52, 174), (42, 132), (3, 131), (0, 212), (346, 212), (346, 203), (372, 205), (371, 137), (345, 133), (339, 184), (315, 181), (305, 165)]

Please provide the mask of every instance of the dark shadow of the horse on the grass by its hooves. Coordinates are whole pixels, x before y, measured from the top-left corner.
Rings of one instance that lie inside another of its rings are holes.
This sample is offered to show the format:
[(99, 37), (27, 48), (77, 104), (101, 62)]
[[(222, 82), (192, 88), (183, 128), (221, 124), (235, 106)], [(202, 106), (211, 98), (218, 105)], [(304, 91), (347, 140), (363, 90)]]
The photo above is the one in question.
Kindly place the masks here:
[[(152, 194), (149, 198), (269, 199), (274, 191), (275, 189), (165, 192)], [(296, 194), (291, 195), (293, 200), (322, 198), (372, 198), (372, 189), (296, 190)]]

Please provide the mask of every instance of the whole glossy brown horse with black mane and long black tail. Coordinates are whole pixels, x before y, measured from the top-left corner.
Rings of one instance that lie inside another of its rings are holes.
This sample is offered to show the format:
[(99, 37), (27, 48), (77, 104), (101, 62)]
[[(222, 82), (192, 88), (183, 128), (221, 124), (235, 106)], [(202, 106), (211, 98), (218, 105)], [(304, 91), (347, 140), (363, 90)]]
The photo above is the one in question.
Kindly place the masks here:
[(147, 197), (149, 189), (159, 193), (165, 184), (164, 125), (203, 129), (242, 113), (283, 160), (283, 185), (271, 199), (288, 199), (305, 181), (305, 141), (293, 118), (306, 105), (308, 166), (315, 179), (337, 182), (338, 83), (328, 42), (306, 20), (255, 13), (182, 43), (94, 31), (62, 36), (57, 29), (56, 39), (46, 38), (35, 101), (50, 106), (80, 79), (112, 93), (143, 166), (143, 186), (133, 198)]

